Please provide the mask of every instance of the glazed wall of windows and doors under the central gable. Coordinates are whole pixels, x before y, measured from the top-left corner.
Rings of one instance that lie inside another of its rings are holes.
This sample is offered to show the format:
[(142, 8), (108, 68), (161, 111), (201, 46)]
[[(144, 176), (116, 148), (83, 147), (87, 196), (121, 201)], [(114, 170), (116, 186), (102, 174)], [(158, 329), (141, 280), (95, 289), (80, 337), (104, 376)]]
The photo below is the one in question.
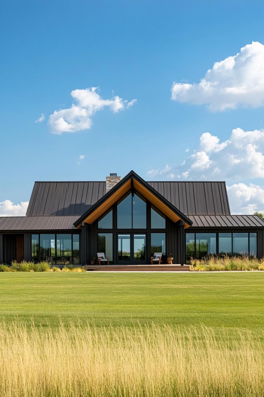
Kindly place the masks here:
[[(108, 214), (111, 214), (109, 224)], [(152, 251), (166, 255), (168, 225), (166, 216), (149, 200), (137, 191), (129, 191), (95, 221), (97, 252), (112, 257), (113, 263), (147, 263)], [(109, 233), (112, 233), (112, 251), (108, 254), (104, 239), (107, 240)]]

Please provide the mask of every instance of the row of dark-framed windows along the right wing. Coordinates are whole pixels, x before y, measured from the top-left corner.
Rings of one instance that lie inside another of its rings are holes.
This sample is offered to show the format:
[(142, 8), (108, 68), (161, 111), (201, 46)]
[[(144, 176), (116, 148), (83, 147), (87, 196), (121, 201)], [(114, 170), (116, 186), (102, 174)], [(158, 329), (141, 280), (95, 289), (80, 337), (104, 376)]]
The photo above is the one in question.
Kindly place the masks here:
[(256, 233), (186, 233), (187, 263), (208, 254), (256, 256)]

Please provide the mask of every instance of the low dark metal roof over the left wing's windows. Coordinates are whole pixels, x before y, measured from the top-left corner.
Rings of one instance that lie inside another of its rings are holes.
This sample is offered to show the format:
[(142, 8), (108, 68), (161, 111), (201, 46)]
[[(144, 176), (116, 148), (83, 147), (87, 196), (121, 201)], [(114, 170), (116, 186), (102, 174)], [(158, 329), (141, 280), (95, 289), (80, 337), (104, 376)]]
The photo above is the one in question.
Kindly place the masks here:
[(6, 216), (0, 218), (0, 230), (68, 230), (76, 229), (78, 216)]

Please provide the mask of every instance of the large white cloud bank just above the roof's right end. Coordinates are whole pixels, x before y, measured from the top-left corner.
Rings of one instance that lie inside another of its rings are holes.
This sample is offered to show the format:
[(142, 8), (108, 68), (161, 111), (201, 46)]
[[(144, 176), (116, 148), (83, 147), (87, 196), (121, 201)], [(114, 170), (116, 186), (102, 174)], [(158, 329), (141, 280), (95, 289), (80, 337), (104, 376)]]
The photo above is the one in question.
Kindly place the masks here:
[[(168, 180), (226, 180), (233, 214), (264, 212), (264, 130), (235, 128), (222, 142), (215, 135), (203, 133), (197, 149), (193, 154), (186, 153), (179, 166), (166, 164), (147, 174)], [(251, 183), (252, 179), (260, 182)]]

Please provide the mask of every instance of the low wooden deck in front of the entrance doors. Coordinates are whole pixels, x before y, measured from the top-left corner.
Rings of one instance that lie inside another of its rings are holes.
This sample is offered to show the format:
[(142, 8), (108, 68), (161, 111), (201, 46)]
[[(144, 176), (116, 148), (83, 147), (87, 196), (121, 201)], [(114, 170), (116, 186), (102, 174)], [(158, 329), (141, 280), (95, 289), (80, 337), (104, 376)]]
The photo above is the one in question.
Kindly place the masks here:
[(89, 265), (91, 272), (189, 272), (189, 265)]

